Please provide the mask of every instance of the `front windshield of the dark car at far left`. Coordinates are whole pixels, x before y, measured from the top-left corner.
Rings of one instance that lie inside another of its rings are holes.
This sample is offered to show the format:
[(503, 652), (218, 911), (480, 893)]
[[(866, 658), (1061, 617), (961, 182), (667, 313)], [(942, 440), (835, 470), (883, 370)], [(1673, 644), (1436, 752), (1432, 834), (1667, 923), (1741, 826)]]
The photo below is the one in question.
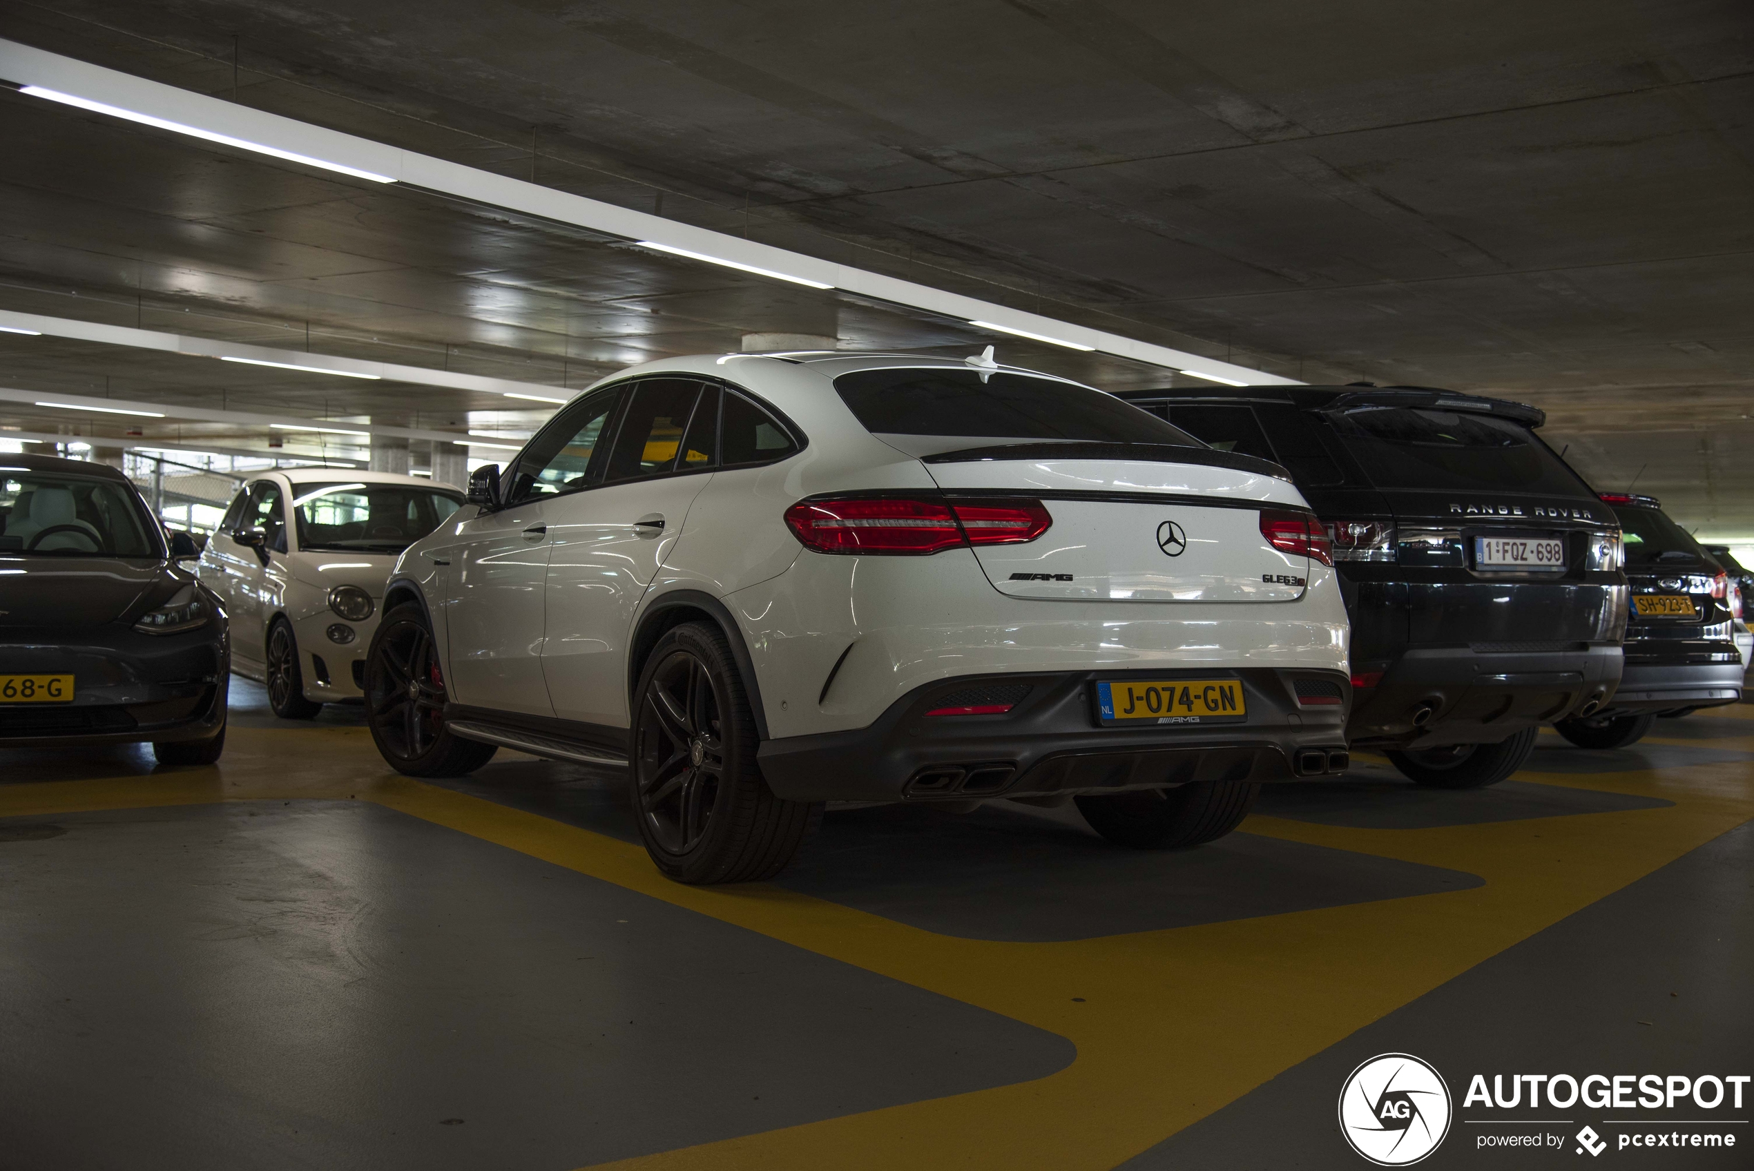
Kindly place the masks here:
[(158, 557), (133, 489), (54, 472), (0, 472), (0, 552)]

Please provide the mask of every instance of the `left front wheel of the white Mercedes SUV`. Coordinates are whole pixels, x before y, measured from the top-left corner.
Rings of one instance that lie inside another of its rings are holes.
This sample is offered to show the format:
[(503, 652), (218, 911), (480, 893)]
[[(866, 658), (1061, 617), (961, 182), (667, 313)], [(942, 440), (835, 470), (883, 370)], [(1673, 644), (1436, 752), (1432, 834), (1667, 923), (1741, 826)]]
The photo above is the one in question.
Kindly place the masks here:
[(365, 726), (389, 768), (405, 777), (465, 777), (496, 745), (453, 736), (446, 687), (426, 612), (412, 601), (389, 610), (365, 656)]

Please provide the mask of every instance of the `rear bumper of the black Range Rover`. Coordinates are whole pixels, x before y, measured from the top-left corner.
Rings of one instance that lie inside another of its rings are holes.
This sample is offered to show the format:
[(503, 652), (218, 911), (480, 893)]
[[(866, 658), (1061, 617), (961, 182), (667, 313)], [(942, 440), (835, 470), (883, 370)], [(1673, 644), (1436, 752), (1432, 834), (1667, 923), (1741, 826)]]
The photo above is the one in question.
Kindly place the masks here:
[(1356, 745), (1435, 749), (1500, 743), (1524, 727), (1577, 715), (1614, 694), (1622, 652), (1612, 643), (1570, 650), (1415, 647), (1354, 698)]

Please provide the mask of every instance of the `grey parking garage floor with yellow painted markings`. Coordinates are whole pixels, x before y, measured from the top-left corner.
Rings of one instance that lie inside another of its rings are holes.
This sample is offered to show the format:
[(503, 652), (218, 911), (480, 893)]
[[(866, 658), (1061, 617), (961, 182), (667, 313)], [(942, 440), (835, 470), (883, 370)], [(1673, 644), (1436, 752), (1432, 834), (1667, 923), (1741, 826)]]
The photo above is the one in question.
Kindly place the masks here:
[(1428, 1166), (1496, 1166), (1473, 1071), (1750, 1073), (1740, 712), (1479, 792), (1361, 756), (1186, 852), (831, 808), (698, 892), (610, 771), (412, 785), (237, 680), (212, 770), (0, 754), (0, 1167), (1345, 1167), (1380, 1052), (1451, 1080)]

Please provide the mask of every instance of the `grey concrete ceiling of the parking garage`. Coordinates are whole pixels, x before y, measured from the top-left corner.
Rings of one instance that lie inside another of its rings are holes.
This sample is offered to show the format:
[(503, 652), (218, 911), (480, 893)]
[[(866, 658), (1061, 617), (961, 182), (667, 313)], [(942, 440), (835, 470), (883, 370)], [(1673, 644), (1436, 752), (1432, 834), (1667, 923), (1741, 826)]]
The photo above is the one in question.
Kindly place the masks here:
[[(0, 37), (1287, 377), (1535, 401), (1598, 484), (1754, 538), (1745, 2), (67, 0)], [(747, 331), (991, 340), (16, 95), (0, 123), (0, 309), (310, 323), (319, 352), (570, 386)], [(11, 384), (216, 389), (42, 342), (0, 340)], [(232, 373), (335, 412), (333, 380)], [(484, 408), (346, 389), (381, 421)]]

